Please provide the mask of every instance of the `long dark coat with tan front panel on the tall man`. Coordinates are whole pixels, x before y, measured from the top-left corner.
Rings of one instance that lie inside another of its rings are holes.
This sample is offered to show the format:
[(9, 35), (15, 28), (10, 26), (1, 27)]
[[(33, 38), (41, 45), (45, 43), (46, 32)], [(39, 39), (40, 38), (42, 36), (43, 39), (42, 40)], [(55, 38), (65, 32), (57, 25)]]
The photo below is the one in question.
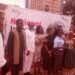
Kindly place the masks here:
[(25, 50), (25, 40), (23, 31), (14, 29), (10, 31), (7, 50), (9, 53), (10, 61), (9, 64), (19, 64), (22, 67), (23, 64), (23, 51)]

